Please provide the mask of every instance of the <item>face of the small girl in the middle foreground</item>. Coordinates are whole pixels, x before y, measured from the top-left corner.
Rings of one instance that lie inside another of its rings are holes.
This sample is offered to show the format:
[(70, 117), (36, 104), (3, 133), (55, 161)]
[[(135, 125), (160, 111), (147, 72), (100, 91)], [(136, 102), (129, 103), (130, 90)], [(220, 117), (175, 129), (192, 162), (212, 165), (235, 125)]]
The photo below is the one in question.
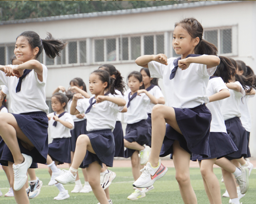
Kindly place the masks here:
[(89, 79), (89, 89), (92, 94), (99, 95), (104, 93), (105, 88), (108, 86), (108, 82), (102, 83), (99, 79), (99, 75), (92, 73)]

